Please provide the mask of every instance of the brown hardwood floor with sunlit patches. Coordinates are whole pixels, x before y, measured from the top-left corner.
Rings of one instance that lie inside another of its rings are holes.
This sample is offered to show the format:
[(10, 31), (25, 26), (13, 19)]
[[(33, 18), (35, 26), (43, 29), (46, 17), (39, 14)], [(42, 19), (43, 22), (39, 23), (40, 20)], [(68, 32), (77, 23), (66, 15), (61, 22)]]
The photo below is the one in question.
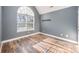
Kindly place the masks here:
[(2, 44), (2, 53), (77, 53), (79, 46), (43, 34)]

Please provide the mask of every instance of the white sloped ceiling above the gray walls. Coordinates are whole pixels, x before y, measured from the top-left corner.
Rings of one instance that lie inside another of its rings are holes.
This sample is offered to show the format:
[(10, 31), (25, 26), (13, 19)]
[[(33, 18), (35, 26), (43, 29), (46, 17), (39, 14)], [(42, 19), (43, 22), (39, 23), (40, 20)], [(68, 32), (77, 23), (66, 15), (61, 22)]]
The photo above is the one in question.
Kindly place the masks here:
[(49, 13), (49, 12), (53, 12), (56, 10), (60, 10), (60, 9), (64, 9), (64, 8), (68, 8), (70, 6), (36, 6), (36, 9), (38, 10), (39, 14), (45, 14), (45, 13)]

